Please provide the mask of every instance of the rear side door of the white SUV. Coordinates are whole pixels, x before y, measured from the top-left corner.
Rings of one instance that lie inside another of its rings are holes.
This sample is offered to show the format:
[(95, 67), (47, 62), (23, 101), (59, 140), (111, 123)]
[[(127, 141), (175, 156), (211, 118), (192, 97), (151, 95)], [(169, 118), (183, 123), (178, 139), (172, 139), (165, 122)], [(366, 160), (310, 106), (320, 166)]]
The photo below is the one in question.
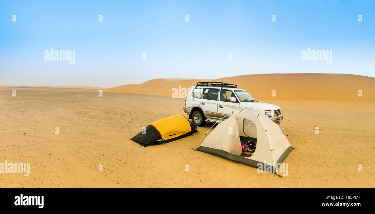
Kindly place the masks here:
[(201, 109), (207, 118), (216, 118), (219, 89), (205, 89), (201, 100)]

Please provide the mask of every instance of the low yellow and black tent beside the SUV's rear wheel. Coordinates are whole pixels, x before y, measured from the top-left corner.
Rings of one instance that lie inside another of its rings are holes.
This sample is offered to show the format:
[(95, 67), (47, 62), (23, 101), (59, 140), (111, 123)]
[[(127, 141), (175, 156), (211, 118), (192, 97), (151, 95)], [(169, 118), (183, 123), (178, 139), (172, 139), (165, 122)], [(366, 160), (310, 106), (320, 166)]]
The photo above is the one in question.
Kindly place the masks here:
[(146, 147), (165, 144), (195, 132), (197, 132), (195, 125), (182, 114), (175, 114), (151, 123), (130, 140)]

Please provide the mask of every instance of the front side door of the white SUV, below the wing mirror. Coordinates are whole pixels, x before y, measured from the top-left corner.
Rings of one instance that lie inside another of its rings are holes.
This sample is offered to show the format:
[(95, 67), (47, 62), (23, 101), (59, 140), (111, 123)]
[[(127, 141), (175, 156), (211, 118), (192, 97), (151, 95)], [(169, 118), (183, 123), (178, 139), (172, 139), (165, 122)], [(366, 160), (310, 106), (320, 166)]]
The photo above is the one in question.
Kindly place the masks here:
[[(231, 97), (236, 98), (236, 103), (231, 102)], [(232, 115), (232, 111), (240, 108), (240, 103), (234, 95), (233, 91), (221, 89), (219, 101), (217, 103), (217, 117), (223, 119), (227, 119), (229, 116)], [(238, 113), (238, 111), (234, 112)], [(228, 114), (228, 115), (226, 115)]]

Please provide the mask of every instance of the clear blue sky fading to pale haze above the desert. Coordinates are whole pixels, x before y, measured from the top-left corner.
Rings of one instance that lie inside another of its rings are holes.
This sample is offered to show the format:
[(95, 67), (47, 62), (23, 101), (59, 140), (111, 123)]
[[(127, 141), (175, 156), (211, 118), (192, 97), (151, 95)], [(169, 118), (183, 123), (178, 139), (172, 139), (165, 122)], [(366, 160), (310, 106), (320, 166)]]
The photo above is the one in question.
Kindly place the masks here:
[[(1, 1), (0, 29), (0, 85), (375, 76), (375, 1)], [(50, 48), (74, 50), (75, 63), (45, 61)], [(302, 61), (308, 48), (332, 50), (332, 63)]]

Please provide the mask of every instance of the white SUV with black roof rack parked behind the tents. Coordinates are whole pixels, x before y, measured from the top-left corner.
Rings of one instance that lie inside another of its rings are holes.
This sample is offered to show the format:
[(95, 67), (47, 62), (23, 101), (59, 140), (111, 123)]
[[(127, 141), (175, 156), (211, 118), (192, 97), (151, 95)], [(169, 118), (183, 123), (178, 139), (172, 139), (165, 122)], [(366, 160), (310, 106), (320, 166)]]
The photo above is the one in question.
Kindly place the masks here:
[(284, 117), (280, 107), (259, 103), (237, 85), (223, 82), (198, 82), (192, 86), (185, 100), (184, 112), (189, 114), (194, 125), (203, 126), (206, 121), (222, 122), (238, 113), (237, 109), (247, 107), (264, 111), (275, 123), (280, 123)]

